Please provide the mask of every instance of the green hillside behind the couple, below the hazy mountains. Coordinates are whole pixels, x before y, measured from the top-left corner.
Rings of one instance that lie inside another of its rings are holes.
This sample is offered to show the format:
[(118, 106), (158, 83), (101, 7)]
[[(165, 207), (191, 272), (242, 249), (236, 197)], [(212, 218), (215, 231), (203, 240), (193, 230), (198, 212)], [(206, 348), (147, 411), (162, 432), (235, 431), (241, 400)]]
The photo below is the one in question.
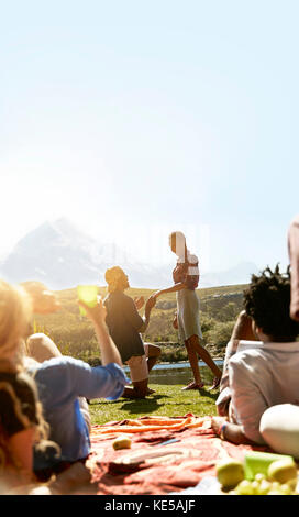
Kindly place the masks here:
[[(235, 318), (243, 304), (243, 290), (246, 285), (221, 286), (198, 289), (200, 298), (200, 318), (203, 339), (213, 358), (223, 358), (225, 344), (229, 341)], [(153, 289), (130, 288), (126, 294), (148, 296)], [(48, 316), (35, 316), (34, 330), (45, 332), (60, 349), (62, 353), (99, 363), (99, 352), (92, 324), (79, 315), (77, 290), (65, 289), (56, 293), (62, 309)], [(106, 296), (104, 287), (99, 287), (99, 294)], [(186, 350), (178, 343), (177, 331), (173, 328), (176, 310), (176, 295), (170, 293), (159, 297), (152, 311), (150, 326), (143, 336), (144, 341), (162, 345), (162, 361), (185, 361)], [(143, 315), (143, 310), (141, 310)]]

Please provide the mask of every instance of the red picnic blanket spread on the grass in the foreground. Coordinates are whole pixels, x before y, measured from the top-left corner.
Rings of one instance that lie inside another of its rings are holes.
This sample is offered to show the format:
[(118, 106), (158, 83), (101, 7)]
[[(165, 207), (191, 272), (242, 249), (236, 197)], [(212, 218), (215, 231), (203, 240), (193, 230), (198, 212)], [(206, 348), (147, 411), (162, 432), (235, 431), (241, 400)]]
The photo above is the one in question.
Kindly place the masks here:
[[(131, 449), (113, 449), (120, 435), (130, 437)], [(169, 440), (177, 441), (166, 444)], [(204, 476), (215, 475), (219, 460), (242, 460), (253, 448), (222, 441), (211, 428), (211, 417), (188, 414), (93, 426), (91, 450), (88, 466), (97, 494), (164, 495), (196, 486)]]

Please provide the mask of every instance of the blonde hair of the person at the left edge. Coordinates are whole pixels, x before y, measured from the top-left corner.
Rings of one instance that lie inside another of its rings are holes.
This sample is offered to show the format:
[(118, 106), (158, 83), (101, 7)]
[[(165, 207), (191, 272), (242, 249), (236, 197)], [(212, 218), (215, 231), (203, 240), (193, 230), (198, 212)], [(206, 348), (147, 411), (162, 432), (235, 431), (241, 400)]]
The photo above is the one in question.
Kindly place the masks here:
[(21, 286), (0, 280), (0, 362), (22, 363), (22, 340), (32, 316), (31, 299)]

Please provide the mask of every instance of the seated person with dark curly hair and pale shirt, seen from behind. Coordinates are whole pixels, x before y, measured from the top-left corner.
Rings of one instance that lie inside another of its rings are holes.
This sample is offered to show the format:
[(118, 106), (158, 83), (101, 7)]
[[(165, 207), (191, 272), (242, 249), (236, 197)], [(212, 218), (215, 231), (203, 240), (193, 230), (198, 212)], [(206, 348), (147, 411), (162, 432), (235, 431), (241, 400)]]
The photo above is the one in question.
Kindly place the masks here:
[[(290, 318), (290, 273), (278, 265), (253, 275), (244, 293), (246, 317), (258, 341), (242, 340), (228, 362), (229, 418), (212, 427), (233, 443), (265, 443), (261, 418), (276, 405), (299, 405), (299, 323)], [(267, 441), (268, 442), (268, 441)]]

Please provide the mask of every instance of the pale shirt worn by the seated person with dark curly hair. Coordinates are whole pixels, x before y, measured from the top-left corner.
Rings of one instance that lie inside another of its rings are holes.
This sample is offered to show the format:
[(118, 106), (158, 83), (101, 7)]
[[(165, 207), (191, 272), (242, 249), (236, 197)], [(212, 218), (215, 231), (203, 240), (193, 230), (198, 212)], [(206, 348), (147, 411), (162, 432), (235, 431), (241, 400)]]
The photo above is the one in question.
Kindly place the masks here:
[(264, 443), (263, 413), (276, 404), (299, 404), (299, 343), (267, 342), (237, 352), (229, 364), (233, 421), (244, 435)]

